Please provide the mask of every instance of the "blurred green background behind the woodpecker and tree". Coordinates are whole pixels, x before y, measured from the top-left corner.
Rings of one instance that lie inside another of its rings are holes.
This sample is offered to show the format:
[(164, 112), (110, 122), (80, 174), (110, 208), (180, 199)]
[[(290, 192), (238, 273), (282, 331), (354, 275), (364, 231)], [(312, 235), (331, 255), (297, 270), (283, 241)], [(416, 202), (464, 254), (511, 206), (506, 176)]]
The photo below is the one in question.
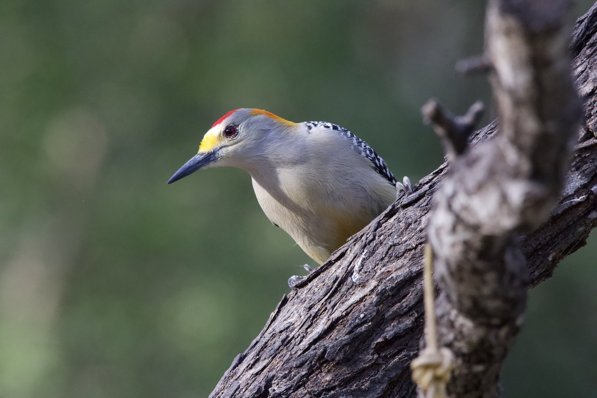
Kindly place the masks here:
[[(313, 262), (244, 172), (170, 175), (259, 107), (343, 125), (417, 181), (442, 162), (421, 105), (491, 104), (453, 72), (483, 18), (472, 0), (2, 0), (0, 397), (207, 396)], [(531, 292), (504, 396), (595, 396), (596, 254)]]

